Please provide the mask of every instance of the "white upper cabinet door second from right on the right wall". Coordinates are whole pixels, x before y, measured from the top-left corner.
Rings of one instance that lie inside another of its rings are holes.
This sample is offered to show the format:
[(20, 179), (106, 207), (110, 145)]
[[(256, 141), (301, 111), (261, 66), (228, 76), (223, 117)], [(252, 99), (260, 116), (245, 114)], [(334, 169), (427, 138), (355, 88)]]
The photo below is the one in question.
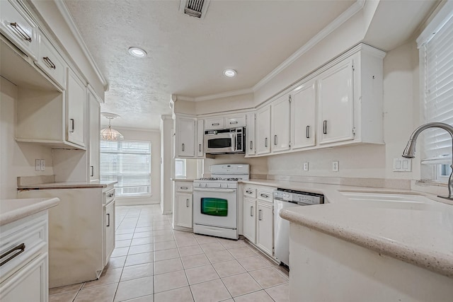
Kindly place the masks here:
[(291, 93), (291, 149), (293, 150), (316, 144), (315, 87), (315, 81), (309, 81)]

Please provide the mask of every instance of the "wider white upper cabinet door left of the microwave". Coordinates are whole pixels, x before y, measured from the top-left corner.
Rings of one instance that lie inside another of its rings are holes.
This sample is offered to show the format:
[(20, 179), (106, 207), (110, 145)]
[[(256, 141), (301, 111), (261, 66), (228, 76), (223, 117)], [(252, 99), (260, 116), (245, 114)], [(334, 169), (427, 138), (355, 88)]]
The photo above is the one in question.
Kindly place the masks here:
[(176, 157), (195, 157), (195, 119), (176, 117)]

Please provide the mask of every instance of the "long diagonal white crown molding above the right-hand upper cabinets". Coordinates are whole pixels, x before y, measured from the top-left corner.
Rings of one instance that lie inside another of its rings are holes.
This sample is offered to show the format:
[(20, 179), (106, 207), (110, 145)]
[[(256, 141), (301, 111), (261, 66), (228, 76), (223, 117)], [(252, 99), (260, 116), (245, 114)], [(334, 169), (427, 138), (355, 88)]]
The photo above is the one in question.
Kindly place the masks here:
[(348, 21), (352, 16), (354, 16), (357, 12), (361, 11), (363, 6), (365, 6), (365, 1), (366, 0), (357, 0), (355, 1), (354, 4), (352, 4), (346, 11), (344, 11), (340, 16), (338, 16), (334, 21), (329, 23), (325, 28), (323, 28), (319, 33), (317, 33), (314, 37), (312, 37), (309, 42), (306, 42), (306, 44), (302, 47), (299, 48), (294, 54), (292, 54), (289, 58), (287, 58), (282, 64), (277, 66), (273, 71), (270, 71), (270, 73), (265, 76), (263, 79), (261, 79), (258, 83), (256, 83), (253, 88), (251, 88), (252, 91), (257, 91), (259, 88), (264, 86), (266, 83), (268, 83), (271, 79), (273, 79), (277, 74), (280, 74), (287, 66), (291, 65), (294, 61), (299, 59), (304, 53), (308, 52), (311, 50), (312, 47), (314, 47), (316, 44), (321, 42), (325, 37), (327, 37), (329, 34), (333, 32), (333, 30), (336, 30), (340, 25)]

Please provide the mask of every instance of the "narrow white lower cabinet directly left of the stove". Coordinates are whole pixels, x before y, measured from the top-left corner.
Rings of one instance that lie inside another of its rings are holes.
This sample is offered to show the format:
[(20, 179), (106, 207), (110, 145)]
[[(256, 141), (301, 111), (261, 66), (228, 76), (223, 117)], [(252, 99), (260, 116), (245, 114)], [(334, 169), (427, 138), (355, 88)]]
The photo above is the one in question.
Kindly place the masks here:
[(193, 182), (173, 182), (173, 228), (181, 231), (193, 229)]

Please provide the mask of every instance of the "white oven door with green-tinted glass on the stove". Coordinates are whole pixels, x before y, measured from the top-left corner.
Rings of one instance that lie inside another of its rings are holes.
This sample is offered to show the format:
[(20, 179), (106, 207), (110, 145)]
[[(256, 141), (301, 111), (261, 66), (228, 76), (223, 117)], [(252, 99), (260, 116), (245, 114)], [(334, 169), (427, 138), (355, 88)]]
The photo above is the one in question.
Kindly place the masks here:
[(193, 223), (236, 229), (236, 189), (194, 187)]

